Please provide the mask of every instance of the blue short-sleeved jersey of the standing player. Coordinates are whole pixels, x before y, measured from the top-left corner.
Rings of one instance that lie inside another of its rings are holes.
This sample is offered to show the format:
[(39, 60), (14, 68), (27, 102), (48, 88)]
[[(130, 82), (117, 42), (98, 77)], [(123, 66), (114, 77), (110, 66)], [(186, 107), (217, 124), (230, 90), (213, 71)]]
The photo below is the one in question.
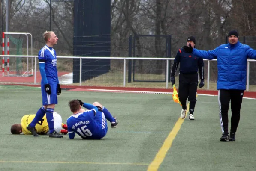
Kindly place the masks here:
[(45, 74), (48, 83), (59, 83), (57, 72), (57, 56), (55, 50), (52, 47), (48, 47), (45, 45), (39, 51), (38, 59), (39, 62), (45, 62)]

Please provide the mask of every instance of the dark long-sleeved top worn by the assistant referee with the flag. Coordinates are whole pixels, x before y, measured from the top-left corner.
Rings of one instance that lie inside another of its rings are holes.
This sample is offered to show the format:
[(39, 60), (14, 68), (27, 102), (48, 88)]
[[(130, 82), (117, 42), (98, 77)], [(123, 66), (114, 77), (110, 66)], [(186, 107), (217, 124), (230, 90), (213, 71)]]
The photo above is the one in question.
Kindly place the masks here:
[(196, 73), (199, 71), (200, 79), (204, 80), (204, 61), (202, 58), (199, 58), (192, 53), (186, 53), (182, 49), (178, 50), (177, 55), (175, 56), (174, 63), (172, 66), (171, 76), (174, 77), (180, 65), (180, 72), (183, 74)]

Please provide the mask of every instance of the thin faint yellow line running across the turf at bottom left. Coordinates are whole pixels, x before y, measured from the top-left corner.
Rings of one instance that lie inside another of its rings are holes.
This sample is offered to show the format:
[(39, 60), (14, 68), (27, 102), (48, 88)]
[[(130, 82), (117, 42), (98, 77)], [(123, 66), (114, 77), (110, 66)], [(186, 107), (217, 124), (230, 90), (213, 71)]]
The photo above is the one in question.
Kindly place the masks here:
[(101, 163), (101, 162), (53, 162), (53, 161), (1, 161), (0, 163), (55, 163), (55, 164), (93, 164), (93, 165), (148, 165), (148, 163)]

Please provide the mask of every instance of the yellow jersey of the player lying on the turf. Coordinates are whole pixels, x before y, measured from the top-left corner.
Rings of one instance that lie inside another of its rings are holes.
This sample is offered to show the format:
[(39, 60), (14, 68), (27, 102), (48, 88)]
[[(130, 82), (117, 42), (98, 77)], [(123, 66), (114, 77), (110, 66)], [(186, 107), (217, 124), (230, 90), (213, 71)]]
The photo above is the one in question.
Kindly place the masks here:
[[(22, 133), (24, 133), (25, 135), (32, 135), (32, 133), (29, 130), (27, 130), (27, 125), (33, 121), (35, 116), (36, 115), (25, 115), (21, 118)], [(46, 115), (44, 115), (42, 120), (36, 124), (36, 133), (45, 134), (48, 132), (48, 130), (48, 122), (46, 119)]]

